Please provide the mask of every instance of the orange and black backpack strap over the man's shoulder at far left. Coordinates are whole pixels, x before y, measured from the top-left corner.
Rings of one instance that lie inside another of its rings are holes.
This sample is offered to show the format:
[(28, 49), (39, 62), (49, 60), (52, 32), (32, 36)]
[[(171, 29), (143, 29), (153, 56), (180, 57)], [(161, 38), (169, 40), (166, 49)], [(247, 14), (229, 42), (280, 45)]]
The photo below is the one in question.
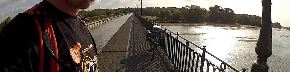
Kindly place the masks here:
[[(44, 67), (44, 51), (50, 53), (50, 71), (59, 72), (59, 64), (61, 67), (73, 68), (76, 70), (76, 65), (69, 62), (63, 62), (58, 59), (57, 41), (53, 28), (51, 26), (52, 20), (48, 18), (48, 15), (40, 4), (35, 5), (31, 9), (24, 13), (34, 16), (35, 24), (39, 33), (39, 72), (43, 72)], [(68, 65), (67, 65), (68, 64)], [(71, 69), (71, 70), (73, 70)]]

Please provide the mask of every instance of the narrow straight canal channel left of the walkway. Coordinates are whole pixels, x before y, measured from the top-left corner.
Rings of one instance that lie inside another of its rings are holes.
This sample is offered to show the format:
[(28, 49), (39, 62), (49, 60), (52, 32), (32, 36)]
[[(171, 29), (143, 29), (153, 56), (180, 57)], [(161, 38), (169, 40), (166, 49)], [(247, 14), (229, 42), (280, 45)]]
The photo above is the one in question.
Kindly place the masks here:
[(132, 13), (88, 29), (95, 39), (98, 53), (131, 15)]

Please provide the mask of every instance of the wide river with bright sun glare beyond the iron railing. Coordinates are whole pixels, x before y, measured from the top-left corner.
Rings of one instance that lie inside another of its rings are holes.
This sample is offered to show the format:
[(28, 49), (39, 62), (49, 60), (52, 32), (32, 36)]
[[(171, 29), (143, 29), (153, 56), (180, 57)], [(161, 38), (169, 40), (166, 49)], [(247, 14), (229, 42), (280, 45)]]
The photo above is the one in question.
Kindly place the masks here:
[[(244, 67), (248, 72), (250, 72), (251, 62), (257, 59), (255, 46), (260, 30), (225, 30), (220, 28), (222, 27), (166, 26), (166, 29), (173, 32), (179, 32), (182, 37), (185, 37), (193, 43), (201, 47), (206, 46), (208, 52), (224, 60), (240, 71)], [(290, 72), (289, 35), (290, 31), (286, 29), (272, 28), (273, 51), (272, 56), (267, 58), (267, 64), (270, 67), (269, 72)], [(176, 37), (176, 35), (172, 36)], [(186, 43), (186, 41), (181, 38), (179, 38), (179, 40)], [(190, 45), (190, 47), (202, 54), (201, 49), (193, 45)], [(220, 67), (221, 62), (211, 57), (209, 54), (206, 54), (205, 57)], [(230, 68), (228, 67), (227, 70), (228, 69)], [(212, 69), (210, 69), (210, 71), (212, 71)], [(233, 71), (229, 70), (229, 72)]]

